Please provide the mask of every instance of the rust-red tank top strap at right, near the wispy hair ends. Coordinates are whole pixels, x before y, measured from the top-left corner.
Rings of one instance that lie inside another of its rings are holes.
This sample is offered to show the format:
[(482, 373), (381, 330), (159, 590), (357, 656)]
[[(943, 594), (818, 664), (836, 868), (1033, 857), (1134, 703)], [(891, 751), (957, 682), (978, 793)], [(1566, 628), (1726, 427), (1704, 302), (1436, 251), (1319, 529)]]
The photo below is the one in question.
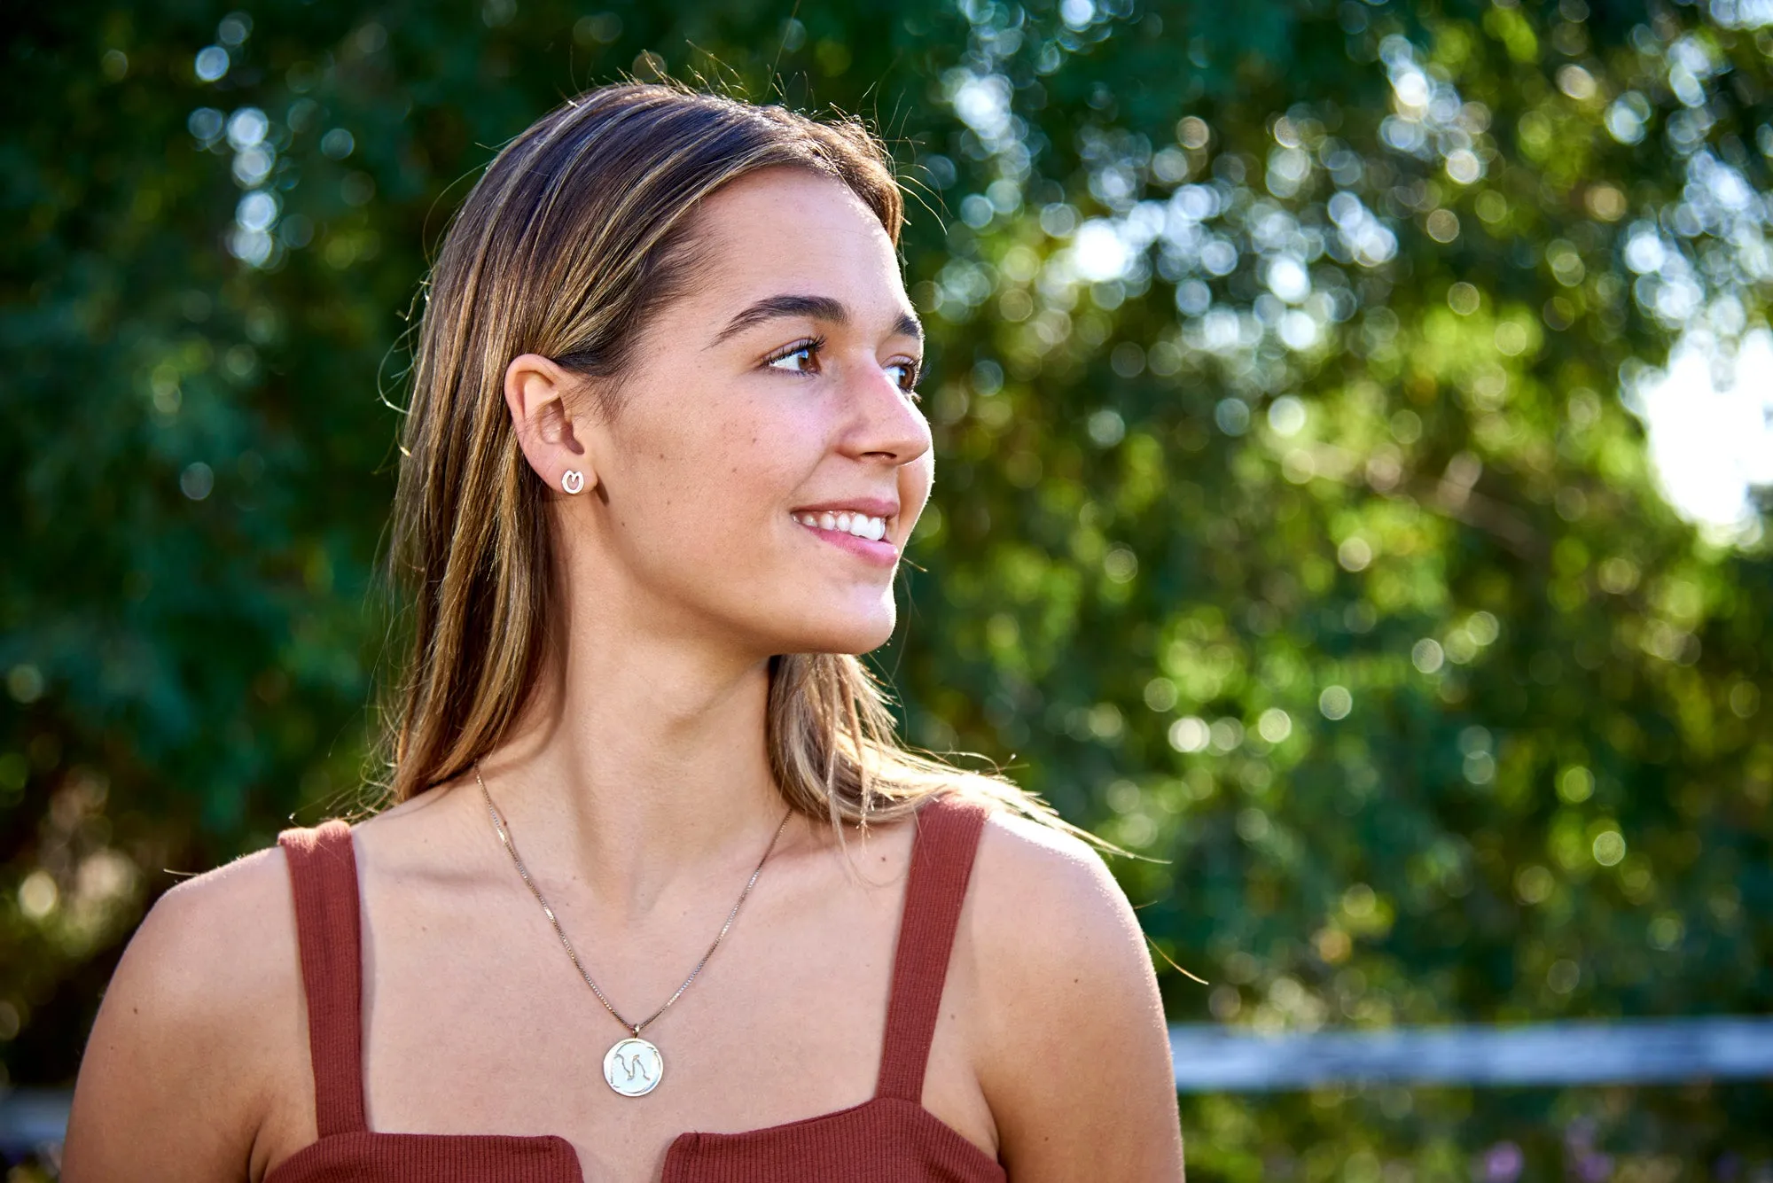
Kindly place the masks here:
[(934, 797), (917, 809), (876, 1096), (895, 1096), (913, 1105), (924, 1100), (924, 1068), (936, 1036), (954, 930), (988, 813), (986, 804), (954, 793)]

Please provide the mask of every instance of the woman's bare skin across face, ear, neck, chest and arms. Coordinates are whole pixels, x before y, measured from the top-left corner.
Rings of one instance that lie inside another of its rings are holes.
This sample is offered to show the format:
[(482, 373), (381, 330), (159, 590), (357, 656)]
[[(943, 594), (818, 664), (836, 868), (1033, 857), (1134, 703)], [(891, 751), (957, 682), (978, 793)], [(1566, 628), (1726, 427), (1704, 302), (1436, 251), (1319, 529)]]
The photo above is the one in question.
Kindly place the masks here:
[[(644, 335), (619, 411), (514, 358), (505, 400), (555, 491), (560, 643), (534, 710), (484, 762), (512, 839), (603, 992), (644, 1018), (679, 986), (782, 820), (766, 662), (867, 652), (894, 627), (892, 561), (794, 510), (929, 496), (906, 390), (922, 342), (885, 230), (842, 184), (746, 175), (702, 211), (711, 271)], [(778, 294), (842, 322), (777, 317)], [(814, 352), (798, 344), (824, 336)], [(585, 476), (558, 492), (566, 471)], [(498, 845), (473, 777), (355, 827), (365, 1102), (378, 1132), (558, 1133), (587, 1181), (656, 1179), (684, 1130), (752, 1130), (874, 1093), (911, 831), (793, 818), (739, 919), (645, 1036), (665, 1082), (601, 1079), (617, 1022)], [(1087, 845), (986, 825), (924, 1107), (1018, 1183), (1181, 1179), (1163, 1009), (1136, 917)], [(172, 889), (129, 942), (74, 1091), (64, 1178), (261, 1179), (316, 1139), (282, 850)]]

